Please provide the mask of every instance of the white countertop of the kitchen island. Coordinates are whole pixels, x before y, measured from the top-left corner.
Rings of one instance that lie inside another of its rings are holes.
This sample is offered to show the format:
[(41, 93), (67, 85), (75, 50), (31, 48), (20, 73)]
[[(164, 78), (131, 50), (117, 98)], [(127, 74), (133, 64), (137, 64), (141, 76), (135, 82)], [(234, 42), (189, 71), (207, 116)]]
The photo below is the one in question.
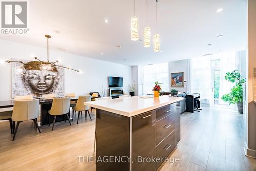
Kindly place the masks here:
[(147, 111), (151, 111), (167, 104), (182, 100), (183, 97), (160, 96), (159, 98), (141, 98), (139, 96), (116, 98), (84, 102), (84, 105), (92, 106), (100, 110), (133, 117)]

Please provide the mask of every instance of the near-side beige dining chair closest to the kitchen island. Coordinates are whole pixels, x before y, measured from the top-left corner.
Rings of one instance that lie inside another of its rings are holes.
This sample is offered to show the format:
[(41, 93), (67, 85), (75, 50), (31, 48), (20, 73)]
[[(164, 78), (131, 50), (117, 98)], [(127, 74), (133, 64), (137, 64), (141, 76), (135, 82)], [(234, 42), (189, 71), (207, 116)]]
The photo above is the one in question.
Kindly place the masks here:
[(78, 116), (77, 116), (77, 124), (79, 120), (79, 115), (82, 116), (82, 111), (84, 111), (85, 117), (87, 117), (87, 113), (89, 114), (90, 119), (91, 115), (89, 113), (90, 106), (84, 105), (83, 103), (86, 101), (91, 101), (92, 96), (79, 96), (76, 106), (74, 106), (73, 109), (73, 118), (74, 118), (74, 111), (78, 111)]

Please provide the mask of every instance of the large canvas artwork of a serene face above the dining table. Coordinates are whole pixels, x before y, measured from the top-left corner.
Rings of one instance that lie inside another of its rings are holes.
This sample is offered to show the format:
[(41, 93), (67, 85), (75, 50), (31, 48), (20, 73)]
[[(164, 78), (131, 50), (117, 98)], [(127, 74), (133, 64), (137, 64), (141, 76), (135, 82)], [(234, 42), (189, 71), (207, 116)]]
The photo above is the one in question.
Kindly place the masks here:
[[(14, 59), (16, 60), (16, 59)], [(20, 60), (20, 59), (17, 59)], [(38, 61), (23, 60), (26, 72), (16, 74), (19, 63), (12, 63), (12, 98), (15, 96), (33, 95), (40, 97), (42, 94), (65, 94), (65, 70), (55, 66), (52, 71), (41, 71)]]

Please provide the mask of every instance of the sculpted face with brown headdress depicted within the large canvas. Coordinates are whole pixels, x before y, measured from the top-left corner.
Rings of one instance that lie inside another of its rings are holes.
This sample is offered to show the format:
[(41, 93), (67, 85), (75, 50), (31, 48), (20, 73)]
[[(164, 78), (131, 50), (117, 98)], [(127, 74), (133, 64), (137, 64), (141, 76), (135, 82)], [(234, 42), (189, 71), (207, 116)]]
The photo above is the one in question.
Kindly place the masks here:
[(39, 69), (40, 62), (30, 61), (25, 63), (27, 70), (22, 79), (26, 89), (36, 94), (49, 94), (57, 86), (59, 73), (54, 67), (52, 71), (42, 72)]

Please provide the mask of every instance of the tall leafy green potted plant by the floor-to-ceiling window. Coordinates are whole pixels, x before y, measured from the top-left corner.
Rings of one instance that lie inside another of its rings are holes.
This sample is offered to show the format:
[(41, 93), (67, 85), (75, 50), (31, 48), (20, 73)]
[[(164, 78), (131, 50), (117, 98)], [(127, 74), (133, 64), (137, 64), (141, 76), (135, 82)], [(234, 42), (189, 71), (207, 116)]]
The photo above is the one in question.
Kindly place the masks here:
[(229, 104), (237, 104), (238, 113), (243, 113), (243, 84), (245, 79), (242, 78), (238, 70), (232, 72), (227, 72), (225, 75), (225, 80), (234, 83), (234, 86), (231, 88), (231, 92), (225, 94), (221, 97), (223, 101), (228, 102)]

